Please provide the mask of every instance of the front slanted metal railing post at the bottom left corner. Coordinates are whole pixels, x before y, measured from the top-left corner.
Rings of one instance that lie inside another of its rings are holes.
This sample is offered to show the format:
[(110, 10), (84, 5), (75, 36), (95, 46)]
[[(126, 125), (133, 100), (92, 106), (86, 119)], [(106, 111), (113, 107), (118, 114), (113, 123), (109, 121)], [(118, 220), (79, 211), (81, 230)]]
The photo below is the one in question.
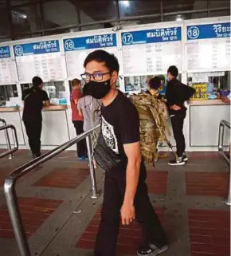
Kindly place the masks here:
[(18, 248), (22, 256), (31, 256), (29, 244), (25, 236), (25, 229), (22, 224), (22, 216), (18, 207), (18, 199), (14, 187), (14, 178), (8, 177), (4, 183), (6, 204), (10, 214), (10, 220), (14, 229), (14, 235), (18, 242)]

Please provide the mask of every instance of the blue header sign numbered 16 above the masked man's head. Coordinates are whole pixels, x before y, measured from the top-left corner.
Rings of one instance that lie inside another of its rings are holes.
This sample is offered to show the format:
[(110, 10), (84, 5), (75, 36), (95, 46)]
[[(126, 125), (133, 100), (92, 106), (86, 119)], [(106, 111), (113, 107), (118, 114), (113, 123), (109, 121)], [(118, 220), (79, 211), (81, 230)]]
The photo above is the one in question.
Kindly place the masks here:
[(100, 34), (90, 37), (76, 37), (64, 39), (65, 51), (81, 49), (96, 49), (116, 46), (115, 33)]

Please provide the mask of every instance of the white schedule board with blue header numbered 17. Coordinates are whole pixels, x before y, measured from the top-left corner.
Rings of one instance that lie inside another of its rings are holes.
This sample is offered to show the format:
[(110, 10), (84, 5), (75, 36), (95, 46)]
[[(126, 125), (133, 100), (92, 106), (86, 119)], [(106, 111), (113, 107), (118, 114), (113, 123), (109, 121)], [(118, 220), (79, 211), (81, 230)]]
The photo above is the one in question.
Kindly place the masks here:
[(182, 28), (123, 32), (123, 73), (166, 73), (170, 65), (182, 69)]

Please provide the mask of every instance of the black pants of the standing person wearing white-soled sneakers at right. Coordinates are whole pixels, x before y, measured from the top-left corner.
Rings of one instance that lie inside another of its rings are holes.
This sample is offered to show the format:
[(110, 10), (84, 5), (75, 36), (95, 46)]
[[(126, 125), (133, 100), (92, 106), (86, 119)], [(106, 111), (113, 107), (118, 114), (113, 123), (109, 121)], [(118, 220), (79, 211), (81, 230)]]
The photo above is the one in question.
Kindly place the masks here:
[(177, 154), (179, 157), (186, 151), (186, 140), (183, 134), (184, 119), (186, 118), (186, 112), (171, 116), (171, 124), (174, 132), (174, 139), (177, 145)]

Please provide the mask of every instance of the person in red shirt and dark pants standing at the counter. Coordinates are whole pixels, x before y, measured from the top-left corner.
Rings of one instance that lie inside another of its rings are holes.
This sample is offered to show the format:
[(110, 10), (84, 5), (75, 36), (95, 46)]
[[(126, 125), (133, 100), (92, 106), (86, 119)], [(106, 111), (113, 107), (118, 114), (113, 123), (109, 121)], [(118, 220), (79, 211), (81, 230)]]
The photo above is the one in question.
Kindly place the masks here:
[[(77, 104), (80, 98), (83, 96), (81, 92), (81, 82), (79, 79), (72, 80), (72, 94), (71, 94), (71, 107), (72, 107), (72, 123), (76, 129), (76, 135), (80, 135), (84, 132), (84, 118), (80, 116), (77, 109)], [(85, 140), (81, 140), (77, 145), (77, 155), (79, 160), (87, 159), (87, 147)]]

